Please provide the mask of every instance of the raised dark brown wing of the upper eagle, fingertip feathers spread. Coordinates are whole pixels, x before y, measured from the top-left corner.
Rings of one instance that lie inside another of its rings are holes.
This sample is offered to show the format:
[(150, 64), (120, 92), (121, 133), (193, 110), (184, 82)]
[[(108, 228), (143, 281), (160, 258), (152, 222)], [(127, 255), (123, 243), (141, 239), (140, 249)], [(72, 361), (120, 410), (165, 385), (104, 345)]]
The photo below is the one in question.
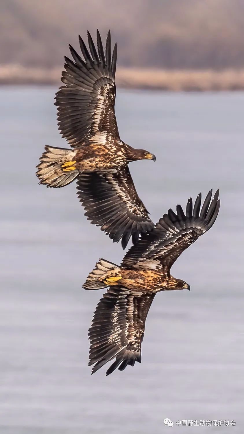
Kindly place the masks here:
[(111, 59), (111, 36), (107, 34), (105, 54), (101, 36), (97, 30), (96, 50), (90, 33), (88, 44), (91, 54), (79, 36), (84, 60), (69, 46), (75, 62), (65, 57), (62, 86), (56, 93), (58, 125), (62, 137), (72, 147), (89, 143), (89, 139), (105, 132), (119, 138), (114, 112), (116, 88), (114, 84), (117, 45)]

